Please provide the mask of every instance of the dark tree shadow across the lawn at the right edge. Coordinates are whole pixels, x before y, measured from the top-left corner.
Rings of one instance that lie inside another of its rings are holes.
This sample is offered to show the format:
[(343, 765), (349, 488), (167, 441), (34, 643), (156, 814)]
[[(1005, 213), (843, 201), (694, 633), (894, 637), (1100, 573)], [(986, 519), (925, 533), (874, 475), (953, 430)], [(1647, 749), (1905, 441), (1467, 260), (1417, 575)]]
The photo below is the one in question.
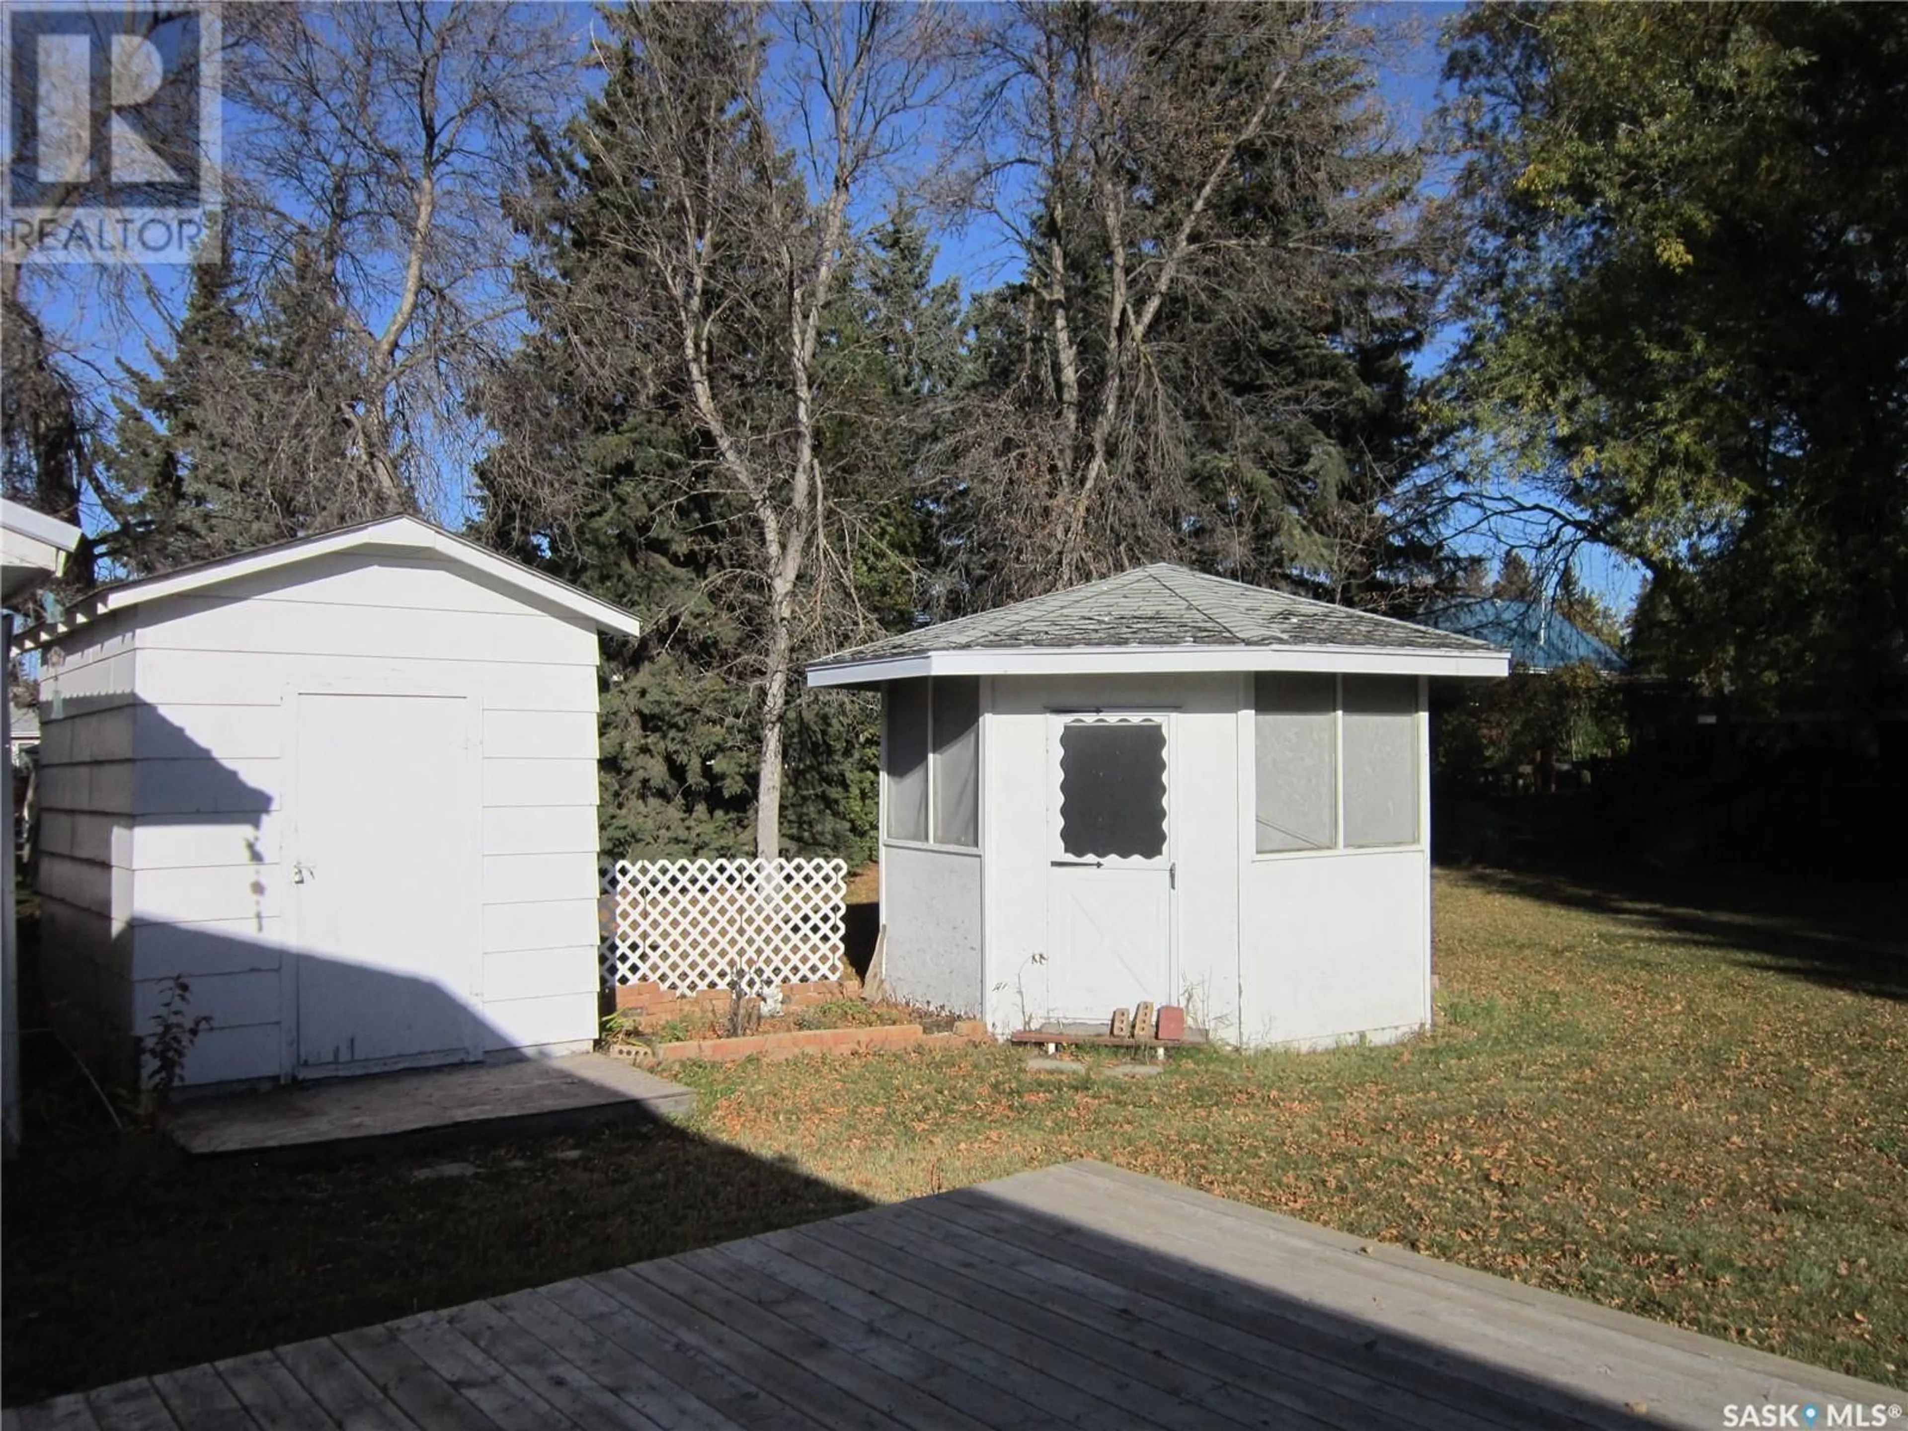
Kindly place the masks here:
[(1744, 967), (1908, 1000), (1908, 893), (1898, 889), (1746, 885), (1622, 866), (1463, 874), (1504, 893), (1708, 946)]

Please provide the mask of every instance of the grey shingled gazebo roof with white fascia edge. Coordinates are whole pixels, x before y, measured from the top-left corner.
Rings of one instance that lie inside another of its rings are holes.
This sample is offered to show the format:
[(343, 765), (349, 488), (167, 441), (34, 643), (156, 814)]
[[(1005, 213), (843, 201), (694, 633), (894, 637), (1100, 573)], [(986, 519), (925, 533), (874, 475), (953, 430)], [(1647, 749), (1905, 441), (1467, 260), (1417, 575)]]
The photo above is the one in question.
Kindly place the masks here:
[[(996, 611), (889, 635), (809, 666), (813, 685), (927, 674), (1086, 670), (1399, 670), (1450, 675), (1504, 672), (1504, 653), (1414, 622), (1269, 591), (1156, 563)], [(1292, 656), (1341, 656), (1296, 662)], [(1378, 660), (1385, 656), (1387, 660)], [(1479, 666), (1479, 670), (1441, 668)], [(914, 670), (920, 662), (927, 668)], [(1492, 670), (1483, 670), (1492, 666)]]

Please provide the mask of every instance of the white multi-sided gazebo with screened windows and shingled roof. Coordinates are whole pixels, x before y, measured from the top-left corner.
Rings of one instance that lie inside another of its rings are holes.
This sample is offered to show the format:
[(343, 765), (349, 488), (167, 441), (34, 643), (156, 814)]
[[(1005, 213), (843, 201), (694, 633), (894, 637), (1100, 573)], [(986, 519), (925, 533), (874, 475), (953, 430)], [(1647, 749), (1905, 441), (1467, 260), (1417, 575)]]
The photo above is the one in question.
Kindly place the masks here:
[(843, 651), (878, 687), (883, 979), (996, 1032), (1141, 1000), (1246, 1047), (1431, 1021), (1433, 677), (1507, 656), (1181, 567)]

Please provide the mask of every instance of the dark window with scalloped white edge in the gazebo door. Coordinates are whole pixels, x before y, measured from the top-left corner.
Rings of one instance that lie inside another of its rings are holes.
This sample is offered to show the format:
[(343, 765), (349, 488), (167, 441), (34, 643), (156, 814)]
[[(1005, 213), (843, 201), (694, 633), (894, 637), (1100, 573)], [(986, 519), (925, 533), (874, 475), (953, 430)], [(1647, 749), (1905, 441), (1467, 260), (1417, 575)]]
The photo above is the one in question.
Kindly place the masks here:
[(1061, 727), (1061, 849), (1074, 859), (1166, 853), (1166, 727), (1072, 721)]

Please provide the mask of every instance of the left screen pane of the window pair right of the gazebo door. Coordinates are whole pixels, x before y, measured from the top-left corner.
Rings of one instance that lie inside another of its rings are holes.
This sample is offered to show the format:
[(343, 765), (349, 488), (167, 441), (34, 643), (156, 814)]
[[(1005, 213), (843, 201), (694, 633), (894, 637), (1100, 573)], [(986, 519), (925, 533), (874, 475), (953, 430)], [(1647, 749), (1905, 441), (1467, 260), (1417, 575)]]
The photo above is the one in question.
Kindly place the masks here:
[(1267, 672), (1254, 685), (1259, 853), (1332, 849), (1338, 843), (1336, 677)]

